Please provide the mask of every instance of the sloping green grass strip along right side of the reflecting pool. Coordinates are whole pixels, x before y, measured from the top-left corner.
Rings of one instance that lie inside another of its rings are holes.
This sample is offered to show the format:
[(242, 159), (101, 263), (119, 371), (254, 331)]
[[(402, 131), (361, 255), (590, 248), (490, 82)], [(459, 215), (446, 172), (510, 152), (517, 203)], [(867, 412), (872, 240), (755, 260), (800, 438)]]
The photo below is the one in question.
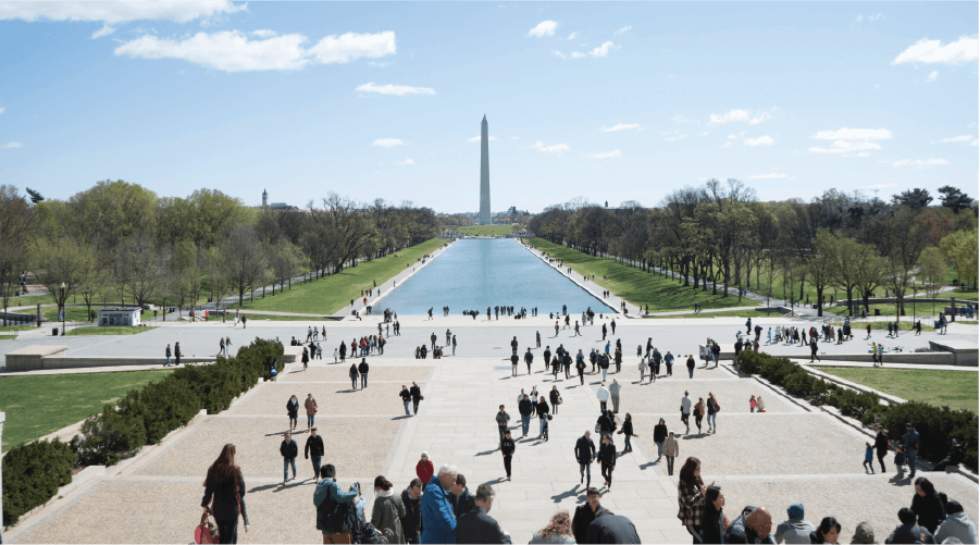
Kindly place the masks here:
[[(581, 276), (595, 275), (596, 285), (622, 297), (632, 306), (631, 313), (637, 306), (649, 305), (650, 312), (669, 312), (672, 310), (694, 310), (694, 304), (700, 302), (704, 308), (748, 307), (757, 305), (752, 299), (739, 301), (736, 296), (722, 297), (707, 292), (683, 287), (677, 280), (660, 276), (657, 273), (643, 272), (640, 269), (619, 263), (615, 259), (587, 256), (567, 246), (551, 244), (542, 238), (525, 240), (531, 246), (543, 250), (553, 259), (560, 259), (566, 267)], [(606, 277), (607, 280), (603, 280)]]

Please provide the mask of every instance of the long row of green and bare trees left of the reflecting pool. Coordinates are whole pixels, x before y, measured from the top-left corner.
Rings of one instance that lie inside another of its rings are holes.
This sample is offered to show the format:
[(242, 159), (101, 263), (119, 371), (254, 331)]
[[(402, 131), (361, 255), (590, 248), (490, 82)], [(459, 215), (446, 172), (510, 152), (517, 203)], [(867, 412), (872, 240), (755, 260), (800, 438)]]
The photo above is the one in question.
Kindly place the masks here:
[[(99, 182), (67, 200), (24, 198), (0, 186), (0, 304), (27, 271), (59, 306), (82, 297), (176, 306), (220, 300), (299, 274), (339, 273), (438, 232), (411, 202), (371, 205), (330, 194), (305, 210), (251, 208), (215, 189), (160, 197), (137, 184)], [(62, 286), (63, 289), (62, 289)], [(263, 293), (264, 295), (264, 293)]]

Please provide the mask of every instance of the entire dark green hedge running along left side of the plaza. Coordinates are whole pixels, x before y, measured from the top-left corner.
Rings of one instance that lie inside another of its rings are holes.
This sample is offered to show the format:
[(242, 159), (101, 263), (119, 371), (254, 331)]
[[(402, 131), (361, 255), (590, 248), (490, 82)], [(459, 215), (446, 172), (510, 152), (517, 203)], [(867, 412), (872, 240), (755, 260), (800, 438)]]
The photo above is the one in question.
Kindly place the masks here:
[(274, 358), (282, 373), (282, 343), (257, 338), (234, 358), (177, 369), (142, 391), (131, 389), (117, 406), (106, 405), (87, 418), (71, 443), (41, 441), (11, 448), (3, 458), (3, 524), (16, 524), (51, 499), (72, 482), (75, 466), (113, 466), (144, 445), (160, 443), (201, 409), (210, 414), (227, 409), (260, 377), (270, 377)]

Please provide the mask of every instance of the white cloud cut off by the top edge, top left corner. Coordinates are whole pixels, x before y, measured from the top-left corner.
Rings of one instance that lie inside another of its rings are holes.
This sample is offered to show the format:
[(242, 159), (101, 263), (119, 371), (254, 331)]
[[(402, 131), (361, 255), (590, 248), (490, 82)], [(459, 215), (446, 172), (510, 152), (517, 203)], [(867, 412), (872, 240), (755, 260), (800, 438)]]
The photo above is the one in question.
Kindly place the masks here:
[(174, 21), (187, 23), (200, 17), (246, 11), (247, 4), (228, 0), (2, 0), (0, 20)]

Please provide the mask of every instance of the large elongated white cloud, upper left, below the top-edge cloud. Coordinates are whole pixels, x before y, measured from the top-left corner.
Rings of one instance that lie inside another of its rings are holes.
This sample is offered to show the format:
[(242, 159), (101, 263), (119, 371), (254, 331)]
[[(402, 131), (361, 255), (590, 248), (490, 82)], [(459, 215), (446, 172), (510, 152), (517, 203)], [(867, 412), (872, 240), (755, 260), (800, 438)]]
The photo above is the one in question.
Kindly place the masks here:
[(117, 47), (115, 54), (182, 59), (226, 72), (246, 72), (301, 70), (313, 62), (346, 63), (361, 57), (377, 58), (395, 53), (393, 32), (327, 36), (310, 49), (305, 48), (307, 41), (308, 38), (300, 34), (249, 39), (239, 30), (197, 33), (179, 41), (147, 35)]

